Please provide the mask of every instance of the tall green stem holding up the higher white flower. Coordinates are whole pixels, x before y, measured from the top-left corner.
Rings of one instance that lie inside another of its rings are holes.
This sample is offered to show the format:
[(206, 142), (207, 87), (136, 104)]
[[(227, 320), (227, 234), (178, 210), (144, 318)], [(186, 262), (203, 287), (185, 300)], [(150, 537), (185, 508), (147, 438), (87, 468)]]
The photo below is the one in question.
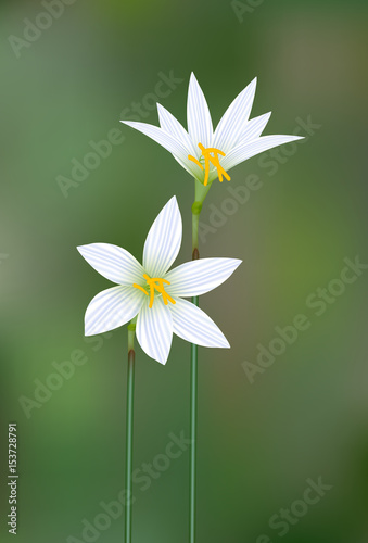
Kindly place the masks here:
[[(199, 225), (202, 205), (211, 185), (204, 187), (195, 180), (195, 201), (192, 205), (192, 260), (200, 257)], [(199, 306), (199, 296), (192, 298)], [(189, 467), (189, 542), (195, 542), (196, 520), (196, 421), (198, 421), (198, 345), (192, 343), (190, 352), (190, 467)]]

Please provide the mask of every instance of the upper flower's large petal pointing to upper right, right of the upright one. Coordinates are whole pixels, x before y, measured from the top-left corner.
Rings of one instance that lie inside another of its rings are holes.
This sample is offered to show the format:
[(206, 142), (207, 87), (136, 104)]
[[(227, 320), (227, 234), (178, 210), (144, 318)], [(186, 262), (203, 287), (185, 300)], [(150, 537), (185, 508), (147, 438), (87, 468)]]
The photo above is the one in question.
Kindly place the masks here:
[(238, 94), (217, 125), (213, 147), (228, 153), (244, 131), (253, 106), (257, 78)]

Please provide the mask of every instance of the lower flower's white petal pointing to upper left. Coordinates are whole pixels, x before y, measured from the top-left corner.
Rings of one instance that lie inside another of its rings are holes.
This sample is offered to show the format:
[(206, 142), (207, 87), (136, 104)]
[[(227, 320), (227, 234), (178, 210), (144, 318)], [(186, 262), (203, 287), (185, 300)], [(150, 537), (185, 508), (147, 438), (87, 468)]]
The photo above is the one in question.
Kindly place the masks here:
[[(125, 249), (110, 243), (90, 243), (77, 247), (81, 256), (106, 279), (118, 285), (132, 285), (143, 279), (144, 270)], [(144, 280), (143, 280), (144, 282)]]

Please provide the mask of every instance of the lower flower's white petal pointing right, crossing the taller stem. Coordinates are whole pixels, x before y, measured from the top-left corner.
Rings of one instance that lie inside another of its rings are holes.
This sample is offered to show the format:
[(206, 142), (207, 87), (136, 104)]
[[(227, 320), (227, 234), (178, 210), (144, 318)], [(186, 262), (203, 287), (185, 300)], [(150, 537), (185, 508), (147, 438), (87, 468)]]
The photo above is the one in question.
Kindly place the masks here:
[(236, 258), (201, 258), (172, 269), (165, 279), (166, 292), (177, 296), (198, 296), (221, 285), (242, 261)]

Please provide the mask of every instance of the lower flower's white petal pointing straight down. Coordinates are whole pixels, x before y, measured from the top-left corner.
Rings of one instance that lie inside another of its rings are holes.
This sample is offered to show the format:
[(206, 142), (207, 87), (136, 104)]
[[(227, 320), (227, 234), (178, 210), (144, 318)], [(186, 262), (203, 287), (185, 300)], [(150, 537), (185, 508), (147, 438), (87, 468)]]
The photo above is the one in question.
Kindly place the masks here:
[(138, 315), (137, 339), (145, 354), (166, 364), (173, 340), (172, 314), (162, 298), (155, 298), (151, 308), (149, 303), (148, 300)]

